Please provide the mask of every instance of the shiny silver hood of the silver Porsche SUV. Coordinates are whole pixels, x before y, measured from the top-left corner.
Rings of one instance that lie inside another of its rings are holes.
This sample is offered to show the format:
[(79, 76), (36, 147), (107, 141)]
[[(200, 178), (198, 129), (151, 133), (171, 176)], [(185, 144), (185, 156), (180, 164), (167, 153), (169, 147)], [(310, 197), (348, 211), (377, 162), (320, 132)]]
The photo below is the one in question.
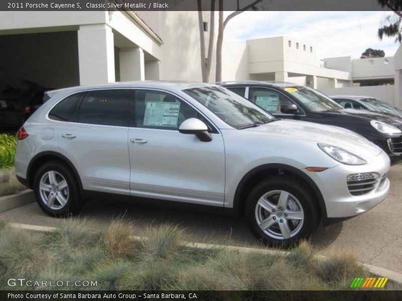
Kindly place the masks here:
[(377, 145), (348, 129), (307, 121), (280, 119), (243, 130), (256, 134), (269, 134), (271, 137), (274, 135), (282, 139), (326, 143), (365, 158), (378, 156), (382, 152)]

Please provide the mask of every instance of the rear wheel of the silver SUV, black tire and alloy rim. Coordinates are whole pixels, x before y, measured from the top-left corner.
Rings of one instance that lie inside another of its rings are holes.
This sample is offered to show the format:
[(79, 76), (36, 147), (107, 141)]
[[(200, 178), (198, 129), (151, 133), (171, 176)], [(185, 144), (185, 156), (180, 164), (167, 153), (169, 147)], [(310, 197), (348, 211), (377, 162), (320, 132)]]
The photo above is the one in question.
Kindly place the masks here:
[(48, 162), (38, 170), (34, 191), (39, 206), (49, 215), (64, 217), (81, 209), (77, 181), (71, 170), (57, 161)]

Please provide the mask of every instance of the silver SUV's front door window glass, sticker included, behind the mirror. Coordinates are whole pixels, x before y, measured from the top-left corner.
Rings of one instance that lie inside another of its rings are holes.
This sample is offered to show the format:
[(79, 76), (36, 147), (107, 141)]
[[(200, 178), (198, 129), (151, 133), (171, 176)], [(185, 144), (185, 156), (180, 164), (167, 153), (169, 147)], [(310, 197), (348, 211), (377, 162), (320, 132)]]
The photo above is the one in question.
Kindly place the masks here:
[(177, 130), (188, 118), (202, 120), (211, 132), (216, 132), (209, 121), (176, 96), (154, 90), (137, 90), (134, 101), (134, 125), (142, 128)]

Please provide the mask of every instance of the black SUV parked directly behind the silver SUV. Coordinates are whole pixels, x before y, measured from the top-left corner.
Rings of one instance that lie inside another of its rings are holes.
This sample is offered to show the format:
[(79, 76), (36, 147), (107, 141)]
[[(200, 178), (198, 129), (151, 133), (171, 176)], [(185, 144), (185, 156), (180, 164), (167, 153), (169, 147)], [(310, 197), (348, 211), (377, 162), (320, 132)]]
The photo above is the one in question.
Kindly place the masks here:
[(344, 127), (380, 146), (392, 163), (402, 159), (402, 118), (345, 109), (317, 90), (292, 83), (243, 81), (218, 84), (259, 105), (277, 118)]

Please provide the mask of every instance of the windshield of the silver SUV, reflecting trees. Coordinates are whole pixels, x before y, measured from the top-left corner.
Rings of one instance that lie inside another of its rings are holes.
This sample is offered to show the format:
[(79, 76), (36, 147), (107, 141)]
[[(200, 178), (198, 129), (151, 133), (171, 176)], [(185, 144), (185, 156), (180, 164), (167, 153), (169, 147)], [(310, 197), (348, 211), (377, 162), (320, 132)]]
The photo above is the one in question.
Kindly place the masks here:
[(206, 86), (183, 90), (183, 92), (237, 129), (275, 120), (272, 115), (247, 99), (223, 87)]

